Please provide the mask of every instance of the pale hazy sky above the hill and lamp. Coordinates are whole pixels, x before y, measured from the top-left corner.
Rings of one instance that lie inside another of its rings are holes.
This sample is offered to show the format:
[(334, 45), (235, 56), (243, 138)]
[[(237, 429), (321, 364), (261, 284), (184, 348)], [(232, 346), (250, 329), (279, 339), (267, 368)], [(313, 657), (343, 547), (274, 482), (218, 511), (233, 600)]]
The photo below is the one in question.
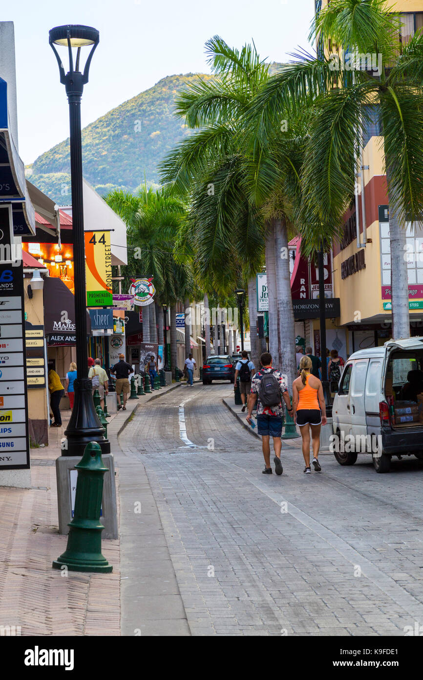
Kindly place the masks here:
[[(88, 24), (100, 44), (82, 99), (86, 125), (166, 75), (208, 71), (204, 43), (215, 34), (232, 46), (254, 39), (270, 61), (308, 47), (314, 0), (15, 0), (19, 152), (24, 163), (69, 136), (65, 86), (48, 44), (60, 24)], [(66, 66), (66, 56), (63, 61)], [(1, 74), (0, 74), (1, 75)]]

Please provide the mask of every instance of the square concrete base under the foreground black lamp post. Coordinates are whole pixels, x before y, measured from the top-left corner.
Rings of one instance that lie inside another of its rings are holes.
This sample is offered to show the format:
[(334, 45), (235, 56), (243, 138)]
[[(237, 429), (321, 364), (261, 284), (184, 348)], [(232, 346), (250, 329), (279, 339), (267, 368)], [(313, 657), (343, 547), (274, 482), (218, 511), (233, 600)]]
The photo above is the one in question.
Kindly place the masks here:
[[(114, 393), (115, 394), (115, 393)], [(109, 403), (107, 403), (109, 408)], [(117, 527), (117, 507), (116, 507), (116, 485), (115, 485), (115, 464), (113, 454), (103, 454), (103, 463), (109, 472), (105, 473), (103, 486), (103, 499), (101, 502), (102, 515), (100, 522), (105, 527), (103, 539), (117, 539), (119, 530)], [(79, 463), (79, 456), (60, 456), (56, 459), (56, 479), (57, 479), (57, 504), (59, 534), (69, 534), (68, 523), (72, 520), (72, 500), (75, 501), (75, 486), (77, 475), (71, 475), (71, 471), (76, 473), (75, 465)]]

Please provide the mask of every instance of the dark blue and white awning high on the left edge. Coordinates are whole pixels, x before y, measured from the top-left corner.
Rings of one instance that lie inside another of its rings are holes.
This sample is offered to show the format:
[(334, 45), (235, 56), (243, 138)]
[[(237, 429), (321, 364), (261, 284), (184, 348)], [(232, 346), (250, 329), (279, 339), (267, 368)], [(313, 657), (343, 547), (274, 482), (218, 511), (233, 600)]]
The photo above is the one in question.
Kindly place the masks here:
[(26, 186), (24, 164), (14, 144), (7, 109), (7, 83), (0, 78), (0, 202), (12, 203), (16, 236), (35, 233), (35, 211)]

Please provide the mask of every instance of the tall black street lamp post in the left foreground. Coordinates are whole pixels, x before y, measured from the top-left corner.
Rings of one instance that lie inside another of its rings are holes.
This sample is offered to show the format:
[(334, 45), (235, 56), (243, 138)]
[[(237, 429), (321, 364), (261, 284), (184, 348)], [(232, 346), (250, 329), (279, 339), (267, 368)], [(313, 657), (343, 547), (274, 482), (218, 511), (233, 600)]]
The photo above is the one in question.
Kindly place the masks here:
[[(65, 85), (69, 101), (73, 261), (75, 267), (77, 379), (74, 383), (75, 403), (67, 430), (65, 430), (67, 449), (62, 449), (62, 456), (81, 457), (90, 441), (98, 442), (102, 454), (110, 453), (110, 443), (103, 436), (105, 429), (100, 424), (94, 409), (92, 381), (88, 378), (84, 203), (82, 197), (81, 96), (84, 85), (88, 82), (88, 71), (98, 40), (98, 31), (90, 26), (58, 26), (51, 29), (49, 33), (49, 43), (59, 67), (60, 82)], [(68, 73), (65, 73), (56, 45), (67, 46), (68, 48)], [(88, 54), (84, 73), (81, 73), (79, 71), (81, 48), (86, 46), (91, 46), (91, 51)], [(75, 68), (73, 67), (73, 48), (77, 48)]]

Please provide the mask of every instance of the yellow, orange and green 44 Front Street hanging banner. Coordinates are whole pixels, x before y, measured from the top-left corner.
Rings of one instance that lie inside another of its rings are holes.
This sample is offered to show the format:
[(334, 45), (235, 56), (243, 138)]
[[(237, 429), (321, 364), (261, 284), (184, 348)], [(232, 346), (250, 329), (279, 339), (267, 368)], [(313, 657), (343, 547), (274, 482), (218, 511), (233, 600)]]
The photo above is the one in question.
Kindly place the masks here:
[(109, 231), (86, 231), (87, 307), (113, 305), (111, 279), (111, 247)]

